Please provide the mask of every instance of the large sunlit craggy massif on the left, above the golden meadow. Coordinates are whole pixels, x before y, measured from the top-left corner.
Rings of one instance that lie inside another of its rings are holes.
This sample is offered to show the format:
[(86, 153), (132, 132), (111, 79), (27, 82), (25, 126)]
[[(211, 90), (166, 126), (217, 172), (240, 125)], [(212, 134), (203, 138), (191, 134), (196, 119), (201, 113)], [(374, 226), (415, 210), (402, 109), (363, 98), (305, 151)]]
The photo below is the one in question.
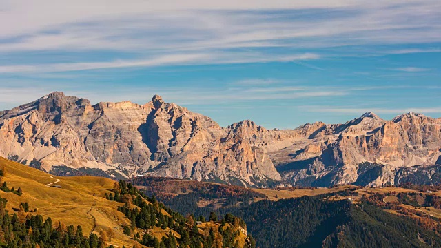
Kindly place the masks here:
[(263, 149), (250, 142), (263, 127), (243, 122), (223, 128), (161, 96), (145, 105), (91, 105), (53, 92), (2, 112), (0, 123), (0, 155), (48, 172), (63, 165), (101, 169), (110, 176), (152, 174), (243, 185), (281, 179)]

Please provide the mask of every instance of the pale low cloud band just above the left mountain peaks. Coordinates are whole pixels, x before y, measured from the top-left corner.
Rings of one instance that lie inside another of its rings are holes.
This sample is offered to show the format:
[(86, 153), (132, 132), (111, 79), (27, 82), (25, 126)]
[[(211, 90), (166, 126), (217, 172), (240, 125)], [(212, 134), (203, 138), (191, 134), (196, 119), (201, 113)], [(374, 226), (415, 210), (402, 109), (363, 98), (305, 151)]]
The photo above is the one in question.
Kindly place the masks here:
[(220, 87), (216, 89), (200, 89), (198, 86), (182, 87), (139, 87), (134, 91), (127, 87), (111, 87), (100, 92), (85, 91), (81, 87), (72, 88), (60, 85), (48, 85), (48, 87), (2, 87), (0, 88), (0, 103), (15, 107), (39, 99), (41, 96), (52, 91), (64, 91), (71, 96), (90, 99), (95, 103), (99, 101), (134, 101), (143, 104), (150, 101), (154, 94), (160, 94), (165, 101), (178, 103), (179, 105), (225, 105), (232, 103), (261, 102), (261, 101), (283, 101), (293, 99), (332, 99), (336, 96), (350, 94), (339, 88), (324, 87), (272, 87), (269, 90), (262, 90), (256, 87), (229, 88)]

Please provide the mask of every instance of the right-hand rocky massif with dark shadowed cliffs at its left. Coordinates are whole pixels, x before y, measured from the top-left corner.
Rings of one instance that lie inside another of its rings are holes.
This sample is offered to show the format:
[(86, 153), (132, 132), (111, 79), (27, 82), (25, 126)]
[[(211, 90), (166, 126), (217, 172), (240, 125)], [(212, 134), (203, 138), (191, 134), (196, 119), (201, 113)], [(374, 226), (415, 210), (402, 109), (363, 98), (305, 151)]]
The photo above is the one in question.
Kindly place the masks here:
[(372, 163), (381, 170), (364, 185), (394, 185), (399, 168), (439, 163), (441, 119), (408, 113), (384, 121), (368, 112), (343, 125), (320, 125), (309, 140), (305, 147), (287, 147), (294, 156), (285, 156), (285, 163), (278, 156), (285, 180), (316, 186), (356, 183), (365, 173), (360, 166)]

